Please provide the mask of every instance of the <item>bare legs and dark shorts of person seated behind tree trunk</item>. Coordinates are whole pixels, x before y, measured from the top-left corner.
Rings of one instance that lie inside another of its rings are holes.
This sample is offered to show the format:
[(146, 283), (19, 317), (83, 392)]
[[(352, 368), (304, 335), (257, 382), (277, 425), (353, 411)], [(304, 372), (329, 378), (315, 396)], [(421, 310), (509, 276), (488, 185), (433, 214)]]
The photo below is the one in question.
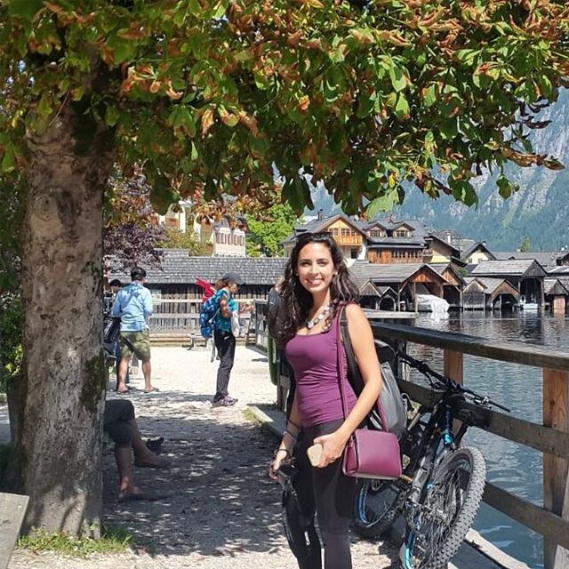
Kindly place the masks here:
[[(134, 485), (132, 477), (132, 454), (134, 465), (149, 469), (165, 469), (170, 460), (156, 456), (140, 437), (140, 430), (134, 416), (134, 406), (128, 399), (105, 401), (103, 429), (115, 442), (116, 469), (118, 469), (118, 501), (153, 500), (148, 493), (141, 492)], [(164, 439), (163, 439), (164, 440)]]

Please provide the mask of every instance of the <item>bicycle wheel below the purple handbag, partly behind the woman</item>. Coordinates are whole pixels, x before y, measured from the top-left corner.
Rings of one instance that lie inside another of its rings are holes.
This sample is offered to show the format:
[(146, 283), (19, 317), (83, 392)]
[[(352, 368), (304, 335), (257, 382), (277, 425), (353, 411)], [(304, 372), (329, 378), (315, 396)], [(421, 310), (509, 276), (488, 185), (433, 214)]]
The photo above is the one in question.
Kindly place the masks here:
[(405, 496), (397, 481), (362, 479), (357, 482), (354, 530), (374, 540), (386, 533), (397, 519)]

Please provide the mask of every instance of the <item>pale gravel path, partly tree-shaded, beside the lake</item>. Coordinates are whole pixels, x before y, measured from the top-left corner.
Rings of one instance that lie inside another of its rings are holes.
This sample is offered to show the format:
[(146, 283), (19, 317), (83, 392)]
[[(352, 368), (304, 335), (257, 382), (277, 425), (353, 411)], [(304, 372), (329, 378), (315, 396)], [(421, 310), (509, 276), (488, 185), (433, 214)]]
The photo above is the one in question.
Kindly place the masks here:
[[(208, 351), (156, 347), (152, 365), (161, 391), (145, 395), (143, 381), (133, 379), (131, 399), (143, 436), (165, 438), (172, 468), (134, 469), (134, 475), (161, 499), (118, 503), (110, 451), (104, 461), (106, 523), (132, 533), (132, 552), (75, 560), (17, 550), (9, 569), (296, 566), (282, 531), (279, 488), (266, 475), (276, 441), (244, 416), (246, 405), (275, 401), (266, 357), (237, 348), (229, 389), (239, 402), (231, 408), (212, 408), (217, 363)], [(396, 554), (389, 544), (380, 553), (377, 544), (356, 539), (352, 552), (355, 569), (388, 567)]]

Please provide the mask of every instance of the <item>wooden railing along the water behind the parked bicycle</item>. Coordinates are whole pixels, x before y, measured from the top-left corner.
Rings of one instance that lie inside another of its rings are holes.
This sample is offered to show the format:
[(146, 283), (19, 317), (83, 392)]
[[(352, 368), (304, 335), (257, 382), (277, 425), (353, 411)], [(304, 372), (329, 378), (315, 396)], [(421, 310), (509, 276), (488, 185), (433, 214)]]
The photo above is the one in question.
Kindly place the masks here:
[[(488, 410), (485, 430), (543, 453), (543, 508), (489, 482), (484, 501), (544, 536), (545, 569), (569, 568), (569, 353), (405, 325), (372, 321), (372, 327), (376, 338), (442, 349), (445, 375), (461, 383), (464, 354), (541, 367), (543, 424)], [(401, 381), (401, 387), (420, 403), (432, 397), (429, 389), (409, 381)]]

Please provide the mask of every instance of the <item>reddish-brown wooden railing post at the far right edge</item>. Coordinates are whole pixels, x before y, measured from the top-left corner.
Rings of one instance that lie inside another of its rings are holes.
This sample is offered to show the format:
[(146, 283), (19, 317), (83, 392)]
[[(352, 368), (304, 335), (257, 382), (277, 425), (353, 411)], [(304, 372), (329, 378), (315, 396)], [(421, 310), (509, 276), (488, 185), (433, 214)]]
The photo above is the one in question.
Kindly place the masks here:
[[(543, 425), (569, 432), (569, 372), (543, 370)], [(569, 520), (569, 463), (552, 454), (543, 455), (543, 507)], [(569, 550), (544, 541), (545, 569), (568, 569)]]

